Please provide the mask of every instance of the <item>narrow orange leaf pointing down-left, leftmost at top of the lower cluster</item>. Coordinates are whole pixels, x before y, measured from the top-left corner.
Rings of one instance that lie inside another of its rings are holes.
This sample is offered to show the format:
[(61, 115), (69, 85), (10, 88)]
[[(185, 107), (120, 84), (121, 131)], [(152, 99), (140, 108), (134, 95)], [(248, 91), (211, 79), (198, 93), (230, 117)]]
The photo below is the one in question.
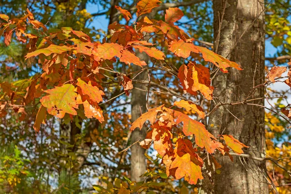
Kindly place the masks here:
[(149, 109), (148, 112), (143, 113), (138, 119), (136, 119), (136, 121), (132, 123), (131, 127), (129, 128), (130, 131), (133, 131), (135, 128), (142, 129), (144, 123), (147, 120), (149, 120), (149, 122), (153, 124), (156, 121), (157, 114), (159, 112), (162, 112), (162, 107), (163, 105), (153, 109)]

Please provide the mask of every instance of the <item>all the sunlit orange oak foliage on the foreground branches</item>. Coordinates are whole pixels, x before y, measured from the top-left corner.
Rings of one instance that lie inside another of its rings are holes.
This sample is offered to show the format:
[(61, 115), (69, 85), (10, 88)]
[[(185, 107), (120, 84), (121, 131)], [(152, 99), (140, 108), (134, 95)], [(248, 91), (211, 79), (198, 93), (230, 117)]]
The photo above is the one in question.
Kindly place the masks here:
[[(73, 119), (75, 115), (84, 114), (86, 118), (96, 118), (102, 123), (105, 121), (100, 108), (106, 90), (101, 85), (106, 79), (104, 72), (115, 73), (120, 78), (118, 84), (129, 96), (133, 89), (130, 65), (140, 66), (141, 69), (152, 64), (167, 66), (165, 60), (169, 54), (184, 62), (174, 73), (184, 93), (212, 100), (215, 88), (211, 86), (209, 65), (189, 61), (189, 57), (200, 55), (203, 61), (215, 65), (223, 73), (228, 73), (228, 68), (242, 68), (210, 49), (195, 45), (194, 38), (175, 26), (174, 23), (183, 16), (180, 9), (167, 9), (164, 20), (149, 19), (147, 14), (160, 2), (140, 0), (136, 6), (136, 17), (116, 6), (128, 25), (110, 24), (108, 29), (113, 34), (102, 42), (94, 42), (85, 33), (70, 27), (48, 33), (46, 26), (35, 20), (29, 10), (21, 18), (9, 18), (1, 14), (3, 22), (0, 23), (0, 35), (4, 36), (5, 45), (11, 44), (12, 36), (16, 36), (18, 41), (26, 45), (27, 63), (37, 61), (42, 73), (15, 84), (0, 83), (3, 99), (6, 100), (1, 101), (0, 116), (4, 117), (6, 110), (13, 108), (19, 114), (19, 119), (24, 120), (25, 107), (36, 106), (38, 111), (33, 125), (36, 132), (46, 123), (47, 115), (58, 118), (69, 115)], [(30, 33), (28, 28), (39, 32), (38, 35)], [(146, 33), (153, 35), (148, 38)], [(159, 45), (155, 42), (156, 37), (162, 40)], [(150, 61), (139, 58), (137, 53), (146, 53)], [(117, 63), (127, 66), (128, 71), (113, 70)], [(268, 79), (275, 81), (284, 71), (286, 67), (274, 67)], [(290, 81), (286, 83), (290, 84)], [(191, 116), (193, 113), (195, 115)], [(283, 113), (291, 118), (289, 110), (283, 110)], [(190, 184), (196, 184), (198, 179), (203, 179), (203, 152), (242, 154), (242, 148), (248, 147), (235, 139), (233, 134), (212, 135), (202, 122), (207, 115), (198, 102), (181, 99), (174, 104), (148, 109), (129, 129), (141, 129), (149, 121), (150, 130), (140, 145), (147, 149), (153, 144), (162, 158), (168, 177), (184, 178)], [(219, 165), (217, 163), (216, 167)]]

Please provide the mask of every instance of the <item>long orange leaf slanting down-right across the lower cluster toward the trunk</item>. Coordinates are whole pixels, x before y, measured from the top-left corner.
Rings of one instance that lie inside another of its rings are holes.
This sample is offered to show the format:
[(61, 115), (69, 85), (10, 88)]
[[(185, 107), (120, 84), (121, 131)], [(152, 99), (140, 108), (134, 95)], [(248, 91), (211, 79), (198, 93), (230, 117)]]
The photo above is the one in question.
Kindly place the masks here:
[(205, 147), (210, 154), (220, 146), (220, 144), (216, 142), (215, 137), (205, 129), (202, 123), (195, 121), (187, 114), (178, 111), (175, 111), (174, 115), (177, 117), (177, 125), (183, 122), (183, 133), (186, 136), (194, 134), (197, 146), (201, 148)]

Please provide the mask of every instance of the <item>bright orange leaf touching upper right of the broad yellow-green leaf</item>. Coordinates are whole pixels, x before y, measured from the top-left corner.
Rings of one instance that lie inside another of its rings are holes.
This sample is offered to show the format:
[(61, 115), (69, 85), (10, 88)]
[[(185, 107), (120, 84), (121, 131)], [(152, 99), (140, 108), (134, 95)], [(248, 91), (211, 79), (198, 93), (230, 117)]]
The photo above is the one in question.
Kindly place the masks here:
[(101, 102), (102, 95), (104, 95), (102, 90), (99, 90), (96, 86), (92, 86), (91, 81), (86, 83), (85, 81), (82, 81), (80, 78), (77, 80), (77, 85), (81, 88), (83, 95), (88, 95), (90, 100), (93, 102), (99, 103)]

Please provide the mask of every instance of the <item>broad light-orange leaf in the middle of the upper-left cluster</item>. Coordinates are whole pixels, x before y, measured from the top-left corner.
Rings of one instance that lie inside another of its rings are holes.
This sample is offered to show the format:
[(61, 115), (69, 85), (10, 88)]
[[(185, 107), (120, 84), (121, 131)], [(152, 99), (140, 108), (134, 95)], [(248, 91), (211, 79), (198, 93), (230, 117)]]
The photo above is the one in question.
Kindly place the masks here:
[(98, 45), (97, 48), (93, 49), (94, 59), (100, 61), (101, 59), (112, 59), (113, 57), (121, 57), (121, 50), (123, 47), (116, 43), (104, 43)]

